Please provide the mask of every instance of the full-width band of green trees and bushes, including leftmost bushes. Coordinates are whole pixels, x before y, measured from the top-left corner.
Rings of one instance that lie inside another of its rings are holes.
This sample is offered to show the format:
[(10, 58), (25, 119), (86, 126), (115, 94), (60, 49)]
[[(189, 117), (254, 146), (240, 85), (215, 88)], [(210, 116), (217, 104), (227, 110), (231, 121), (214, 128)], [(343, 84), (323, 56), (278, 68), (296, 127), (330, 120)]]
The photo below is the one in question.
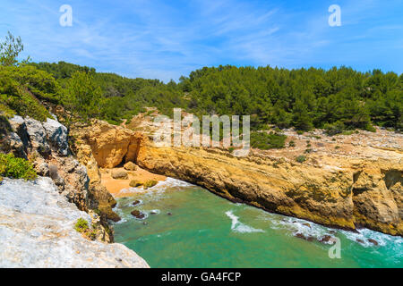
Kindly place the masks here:
[(144, 107), (157, 107), (167, 115), (181, 107), (199, 116), (251, 114), (253, 130), (271, 124), (281, 129), (324, 128), (331, 135), (373, 130), (373, 124), (403, 130), (403, 74), (394, 72), (227, 65), (205, 67), (178, 83), (165, 84), (72, 63), (18, 63), (15, 55), (21, 52), (21, 40), (9, 36), (3, 46), (15, 49), (0, 51), (0, 58), (14, 59), (0, 66), (0, 111), (6, 115), (44, 120), (48, 113), (41, 100), (64, 105), (84, 121), (96, 117), (119, 123)]

